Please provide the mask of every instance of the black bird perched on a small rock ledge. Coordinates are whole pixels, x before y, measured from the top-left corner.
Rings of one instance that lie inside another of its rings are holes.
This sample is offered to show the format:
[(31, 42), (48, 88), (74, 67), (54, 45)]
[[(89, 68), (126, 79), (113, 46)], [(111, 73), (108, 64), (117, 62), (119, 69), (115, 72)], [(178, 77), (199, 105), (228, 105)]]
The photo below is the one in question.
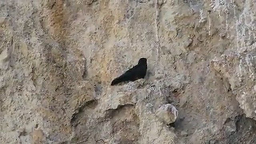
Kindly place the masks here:
[(144, 78), (147, 72), (147, 59), (146, 58), (140, 58), (138, 64), (131, 69), (127, 70), (124, 74), (121, 76), (115, 78), (111, 82), (111, 86), (116, 85), (120, 82), (125, 81), (135, 81), (140, 78)]

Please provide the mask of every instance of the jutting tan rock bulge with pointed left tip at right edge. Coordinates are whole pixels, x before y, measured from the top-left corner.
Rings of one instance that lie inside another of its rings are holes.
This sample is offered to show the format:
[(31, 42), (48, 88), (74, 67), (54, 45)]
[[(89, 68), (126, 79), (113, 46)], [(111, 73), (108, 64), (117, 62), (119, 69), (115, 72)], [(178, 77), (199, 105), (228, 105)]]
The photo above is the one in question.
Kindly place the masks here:
[(228, 78), (230, 89), (248, 118), (256, 120), (256, 45), (212, 60), (215, 70)]

